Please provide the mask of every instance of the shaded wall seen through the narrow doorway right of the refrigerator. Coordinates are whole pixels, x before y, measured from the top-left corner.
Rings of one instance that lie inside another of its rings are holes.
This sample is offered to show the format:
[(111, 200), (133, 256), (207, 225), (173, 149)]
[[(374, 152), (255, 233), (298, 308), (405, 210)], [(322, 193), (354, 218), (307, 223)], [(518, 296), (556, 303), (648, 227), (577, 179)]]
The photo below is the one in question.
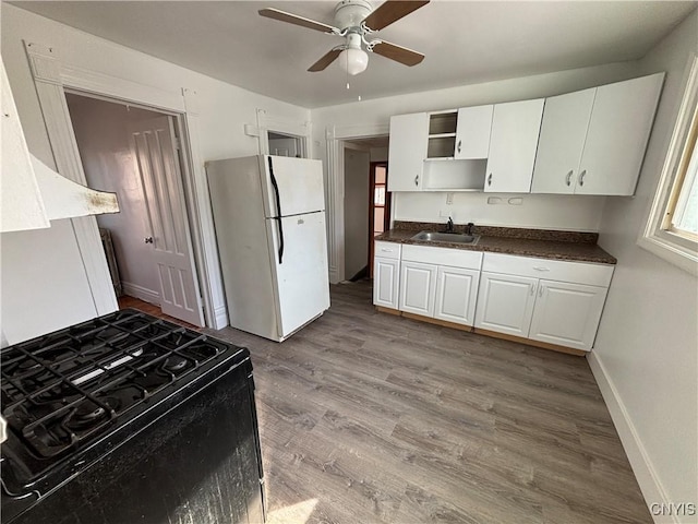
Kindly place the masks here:
[(345, 278), (369, 263), (370, 153), (345, 150)]

